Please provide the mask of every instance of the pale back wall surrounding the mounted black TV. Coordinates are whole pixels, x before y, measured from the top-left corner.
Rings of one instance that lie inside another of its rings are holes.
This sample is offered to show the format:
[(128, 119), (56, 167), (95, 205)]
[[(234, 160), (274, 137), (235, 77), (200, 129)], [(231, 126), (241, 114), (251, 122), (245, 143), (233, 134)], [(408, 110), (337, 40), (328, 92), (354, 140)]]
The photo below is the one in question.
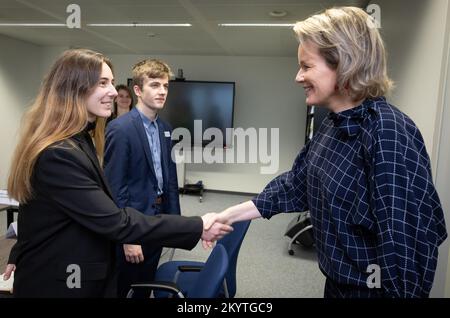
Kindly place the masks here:
[(175, 74), (178, 68), (182, 68), (188, 80), (234, 81), (234, 126), (280, 129), (280, 160), (276, 173), (261, 174), (261, 164), (189, 164), (186, 167), (189, 182), (202, 180), (207, 189), (257, 193), (276, 175), (291, 168), (304, 144), (306, 106), (303, 89), (294, 82), (298, 67), (296, 52), (292, 52), (292, 58), (110, 57), (115, 67), (116, 83), (126, 83), (131, 77), (132, 65), (148, 57), (163, 59)]

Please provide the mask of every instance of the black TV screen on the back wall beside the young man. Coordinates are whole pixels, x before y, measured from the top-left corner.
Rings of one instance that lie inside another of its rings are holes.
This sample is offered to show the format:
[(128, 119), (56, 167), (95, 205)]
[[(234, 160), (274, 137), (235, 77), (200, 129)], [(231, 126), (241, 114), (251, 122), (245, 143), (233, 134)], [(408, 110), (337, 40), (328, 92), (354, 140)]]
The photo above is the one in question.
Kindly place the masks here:
[[(167, 101), (159, 115), (173, 129), (186, 128), (191, 145), (205, 146), (214, 140), (215, 146), (230, 146), (226, 136), (227, 128), (233, 128), (234, 89), (234, 82), (170, 81)], [(201, 120), (201, 125), (197, 122), (194, 127), (196, 120)], [(223, 142), (216, 137), (203, 138), (208, 128), (217, 128)]]

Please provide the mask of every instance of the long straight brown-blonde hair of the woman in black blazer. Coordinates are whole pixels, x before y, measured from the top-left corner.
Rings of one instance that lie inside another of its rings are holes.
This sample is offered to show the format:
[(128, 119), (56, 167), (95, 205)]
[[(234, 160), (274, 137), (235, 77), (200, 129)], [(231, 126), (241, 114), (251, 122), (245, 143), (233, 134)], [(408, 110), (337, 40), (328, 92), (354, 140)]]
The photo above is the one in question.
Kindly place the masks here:
[[(31, 179), (40, 153), (86, 127), (86, 99), (98, 84), (103, 63), (112, 69), (102, 54), (73, 49), (65, 51), (52, 66), (22, 120), (8, 178), (12, 198), (22, 204), (28, 202), (33, 197)], [(101, 138), (96, 140), (97, 149), (103, 149), (101, 143)]]

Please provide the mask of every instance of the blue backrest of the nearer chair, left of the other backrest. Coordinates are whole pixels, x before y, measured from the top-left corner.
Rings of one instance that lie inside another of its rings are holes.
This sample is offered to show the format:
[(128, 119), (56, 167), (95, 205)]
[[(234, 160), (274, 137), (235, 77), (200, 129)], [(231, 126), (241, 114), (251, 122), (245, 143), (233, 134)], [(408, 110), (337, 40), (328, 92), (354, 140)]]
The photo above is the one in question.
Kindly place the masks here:
[(188, 298), (217, 298), (228, 270), (228, 254), (222, 244), (211, 251), (195, 283), (188, 289)]

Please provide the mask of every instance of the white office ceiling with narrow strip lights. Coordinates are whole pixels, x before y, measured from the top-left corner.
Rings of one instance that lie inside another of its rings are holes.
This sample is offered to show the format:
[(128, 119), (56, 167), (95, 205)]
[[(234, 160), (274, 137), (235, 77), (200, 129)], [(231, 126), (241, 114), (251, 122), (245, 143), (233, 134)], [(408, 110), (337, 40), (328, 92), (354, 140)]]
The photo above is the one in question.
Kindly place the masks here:
[[(218, 23), (295, 23), (324, 8), (366, 7), (367, 0), (0, 0), (0, 23), (66, 23), (81, 8), (81, 29), (5, 27), (0, 34), (40, 46), (88, 47), (107, 54), (293, 56), (289, 27)], [(272, 10), (284, 10), (273, 18)], [(88, 23), (191, 23), (192, 27), (88, 27)], [(156, 34), (151, 37), (150, 34)], [(3, 49), (3, 48), (2, 48)]]

